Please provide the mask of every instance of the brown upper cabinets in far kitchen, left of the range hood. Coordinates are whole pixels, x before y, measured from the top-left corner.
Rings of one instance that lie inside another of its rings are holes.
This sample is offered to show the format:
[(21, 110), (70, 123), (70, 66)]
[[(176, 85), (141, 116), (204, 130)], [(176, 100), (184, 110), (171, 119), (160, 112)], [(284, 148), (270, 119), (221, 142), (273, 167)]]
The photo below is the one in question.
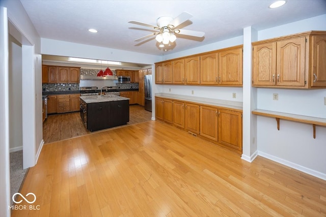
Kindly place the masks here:
[(77, 67), (42, 65), (42, 83), (79, 83), (79, 75)]

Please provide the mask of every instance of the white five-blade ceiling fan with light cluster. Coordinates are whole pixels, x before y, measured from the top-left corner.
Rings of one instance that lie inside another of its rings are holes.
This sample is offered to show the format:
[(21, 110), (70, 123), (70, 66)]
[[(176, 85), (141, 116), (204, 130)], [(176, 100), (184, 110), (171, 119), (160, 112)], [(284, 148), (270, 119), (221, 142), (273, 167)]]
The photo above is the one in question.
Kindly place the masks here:
[(157, 25), (151, 25), (139, 21), (131, 20), (128, 23), (133, 23), (137, 25), (143, 25), (147, 27), (154, 28), (157, 30), (157, 32), (149, 34), (147, 36), (143, 36), (139, 39), (134, 40), (135, 42), (142, 41), (146, 38), (149, 38), (151, 36), (156, 36), (155, 39), (158, 43), (160, 43), (160, 47), (164, 47), (169, 45), (169, 43), (173, 43), (177, 39), (177, 35), (186, 35), (186, 36), (194, 36), (194, 37), (204, 37), (204, 32), (198, 32), (193, 30), (186, 30), (177, 28), (180, 24), (187, 21), (189, 18), (191, 18), (193, 15), (183, 12), (176, 18), (172, 18), (169, 16), (162, 16), (157, 18), (156, 23)]

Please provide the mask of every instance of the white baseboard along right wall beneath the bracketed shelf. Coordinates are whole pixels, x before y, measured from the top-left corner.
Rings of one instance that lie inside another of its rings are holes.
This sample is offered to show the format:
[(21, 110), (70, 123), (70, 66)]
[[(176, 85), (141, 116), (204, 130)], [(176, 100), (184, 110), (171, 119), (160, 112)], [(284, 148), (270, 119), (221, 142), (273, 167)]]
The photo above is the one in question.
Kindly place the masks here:
[(296, 170), (299, 170), (301, 172), (304, 172), (304, 173), (307, 173), (309, 175), (312, 175), (312, 176), (315, 176), (317, 178), (321, 178), (323, 180), (326, 180), (326, 174), (324, 173), (321, 173), (321, 172), (318, 172), (318, 171), (315, 171), (315, 170), (312, 170), (312, 169), (309, 169), (307, 167), (303, 167), (301, 165), (298, 165), (298, 164), (295, 164), (295, 163), (292, 163), (290, 161), (287, 161), (287, 160), (284, 160), (284, 159), (281, 159), (279, 157), (276, 157), (276, 156), (273, 156), (273, 155), (270, 155), (268, 153), (265, 153), (265, 152), (262, 152), (262, 151), (258, 151), (258, 155), (261, 156), (261, 157), (264, 157), (264, 158), (267, 158), (269, 160), (272, 160), (272, 161), (275, 161), (275, 162), (278, 162), (280, 164), (283, 164), (285, 166), (288, 166), (288, 167), (291, 167), (293, 169), (296, 169)]

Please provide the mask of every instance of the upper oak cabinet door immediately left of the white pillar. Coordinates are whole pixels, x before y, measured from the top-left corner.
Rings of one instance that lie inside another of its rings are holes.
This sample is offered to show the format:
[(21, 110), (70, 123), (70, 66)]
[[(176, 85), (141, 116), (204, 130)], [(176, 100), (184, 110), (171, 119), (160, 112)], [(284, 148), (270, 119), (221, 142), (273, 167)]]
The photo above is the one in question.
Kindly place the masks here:
[(219, 84), (242, 85), (242, 48), (219, 53)]

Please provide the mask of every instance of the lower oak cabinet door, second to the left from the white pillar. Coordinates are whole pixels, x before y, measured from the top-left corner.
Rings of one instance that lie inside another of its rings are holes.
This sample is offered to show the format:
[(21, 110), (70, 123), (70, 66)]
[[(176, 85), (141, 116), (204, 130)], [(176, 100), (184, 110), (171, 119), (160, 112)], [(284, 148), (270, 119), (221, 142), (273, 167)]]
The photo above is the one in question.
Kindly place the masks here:
[(200, 135), (218, 141), (218, 109), (200, 107)]

